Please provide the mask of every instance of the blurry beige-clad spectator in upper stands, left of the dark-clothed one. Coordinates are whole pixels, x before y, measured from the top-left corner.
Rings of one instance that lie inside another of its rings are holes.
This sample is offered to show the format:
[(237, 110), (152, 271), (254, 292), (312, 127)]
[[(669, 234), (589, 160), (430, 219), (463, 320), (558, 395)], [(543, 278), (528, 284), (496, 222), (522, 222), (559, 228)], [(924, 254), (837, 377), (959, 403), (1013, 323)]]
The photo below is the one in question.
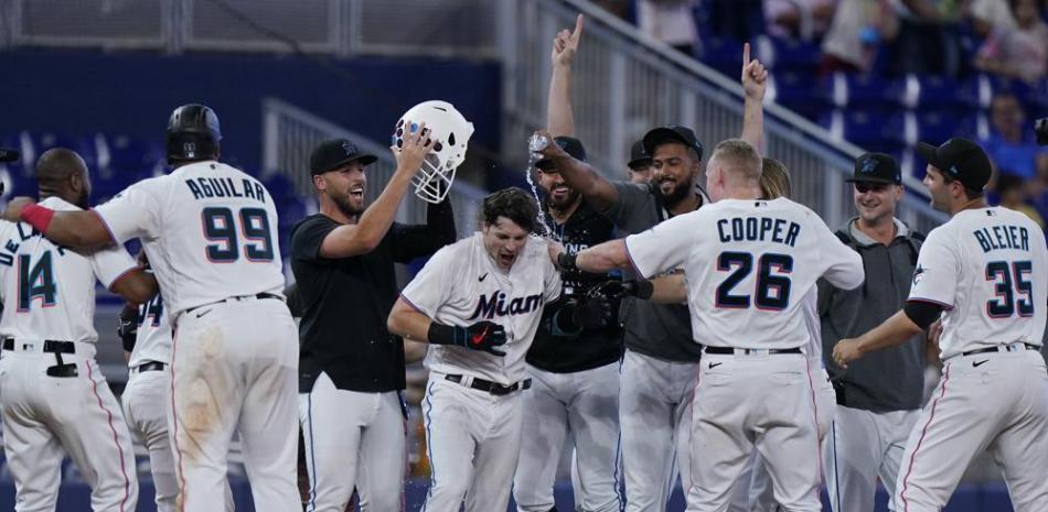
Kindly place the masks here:
[(823, 39), (821, 73), (868, 72), (881, 41), (891, 41), (897, 32), (890, 0), (840, 0)]

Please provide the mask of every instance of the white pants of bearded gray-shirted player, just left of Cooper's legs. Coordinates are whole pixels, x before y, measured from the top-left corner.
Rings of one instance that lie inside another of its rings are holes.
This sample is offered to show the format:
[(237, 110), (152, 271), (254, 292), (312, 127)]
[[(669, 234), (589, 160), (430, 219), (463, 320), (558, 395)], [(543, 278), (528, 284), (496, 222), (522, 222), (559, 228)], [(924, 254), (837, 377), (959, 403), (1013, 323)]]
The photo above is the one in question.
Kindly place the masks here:
[(669, 362), (630, 349), (622, 359), (619, 424), (627, 512), (663, 512), (680, 470), (691, 481), (688, 439), (697, 362)]

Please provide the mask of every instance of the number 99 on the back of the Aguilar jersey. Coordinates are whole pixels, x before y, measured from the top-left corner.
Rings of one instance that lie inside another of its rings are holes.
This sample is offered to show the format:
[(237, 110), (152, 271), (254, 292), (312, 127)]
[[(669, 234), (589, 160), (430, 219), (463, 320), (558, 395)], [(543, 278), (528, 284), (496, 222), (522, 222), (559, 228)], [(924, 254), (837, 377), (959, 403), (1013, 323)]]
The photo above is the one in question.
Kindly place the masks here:
[[(237, 229), (239, 217), (239, 230)], [(206, 247), (207, 260), (214, 263), (232, 263), (240, 258), (238, 233), (244, 236), (244, 255), (247, 261), (272, 261), (272, 237), (269, 235), (269, 216), (261, 208), (242, 208), (235, 216), (226, 207), (208, 207), (201, 213), (204, 237), (216, 241)]]

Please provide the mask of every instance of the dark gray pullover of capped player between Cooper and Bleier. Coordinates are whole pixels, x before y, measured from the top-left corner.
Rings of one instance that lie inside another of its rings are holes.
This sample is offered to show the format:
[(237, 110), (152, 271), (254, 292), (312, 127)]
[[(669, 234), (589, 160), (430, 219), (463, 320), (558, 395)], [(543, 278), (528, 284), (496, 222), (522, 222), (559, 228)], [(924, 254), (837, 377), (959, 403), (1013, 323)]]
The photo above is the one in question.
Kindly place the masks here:
[[(856, 290), (845, 291), (825, 280), (819, 282), (819, 314), (825, 353), (843, 338), (855, 338), (880, 325), (906, 305), (917, 266), (921, 241), (901, 221), (896, 221), (890, 244), (877, 242), (855, 228), (854, 219), (840, 230), (863, 258), (863, 268), (874, 276)], [(844, 370), (832, 358), (831, 378), (841, 383), (838, 400), (848, 407), (874, 412), (920, 408), (924, 389), (924, 335), (897, 347), (876, 350)], [(885, 379), (890, 375), (890, 379)]]

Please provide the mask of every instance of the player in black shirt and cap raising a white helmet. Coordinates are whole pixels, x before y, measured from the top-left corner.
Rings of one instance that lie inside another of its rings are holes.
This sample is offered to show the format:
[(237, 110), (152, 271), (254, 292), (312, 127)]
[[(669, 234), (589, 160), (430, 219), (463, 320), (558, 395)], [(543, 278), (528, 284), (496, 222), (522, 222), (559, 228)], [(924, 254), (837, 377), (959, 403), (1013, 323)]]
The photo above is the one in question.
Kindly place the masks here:
[(434, 145), (447, 144), (450, 132), (467, 137), (461, 115), (452, 119), (459, 122), (436, 123), (440, 128), (432, 117), (405, 121), (416, 129), (405, 130), (394, 152), (397, 168), (370, 206), (366, 165), (374, 155), (345, 139), (324, 141), (310, 155), (320, 213), (291, 231), (291, 269), (303, 306), (299, 415), (309, 511), (344, 511), (354, 486), (370, 511), (397, 512), (404, 501), (404, 344), (386, 329), (398, 292), (394, 263), (432, 254), (453, 242), (456, 231), (449, 200), (429, 206), (427, 225), (393, 220)]

